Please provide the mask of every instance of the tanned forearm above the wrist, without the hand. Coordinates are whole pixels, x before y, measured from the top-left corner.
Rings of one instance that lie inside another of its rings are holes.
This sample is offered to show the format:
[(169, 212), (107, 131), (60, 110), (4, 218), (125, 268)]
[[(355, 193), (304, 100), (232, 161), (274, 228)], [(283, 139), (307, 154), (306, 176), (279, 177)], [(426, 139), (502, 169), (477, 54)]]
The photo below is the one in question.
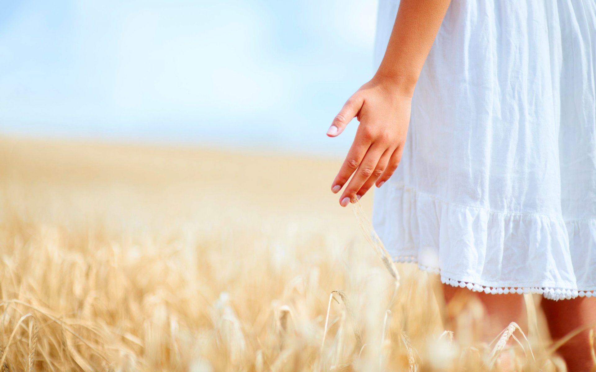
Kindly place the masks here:
[(402, 0), (374, 79), (411, 96), (451, 0)]

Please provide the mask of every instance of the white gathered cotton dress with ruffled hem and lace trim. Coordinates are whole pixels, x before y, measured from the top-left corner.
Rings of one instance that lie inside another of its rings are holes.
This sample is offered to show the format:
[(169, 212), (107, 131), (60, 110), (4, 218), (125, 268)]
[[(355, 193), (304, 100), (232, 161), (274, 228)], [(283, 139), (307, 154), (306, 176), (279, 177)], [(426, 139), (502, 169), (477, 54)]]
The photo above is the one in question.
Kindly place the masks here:
[[(377, 65), (398, 6), (380, 0)], [(453, 0), (375, 192), (395, 260), (486, 293), (596, 296), (595, 74), (596, 2)]]

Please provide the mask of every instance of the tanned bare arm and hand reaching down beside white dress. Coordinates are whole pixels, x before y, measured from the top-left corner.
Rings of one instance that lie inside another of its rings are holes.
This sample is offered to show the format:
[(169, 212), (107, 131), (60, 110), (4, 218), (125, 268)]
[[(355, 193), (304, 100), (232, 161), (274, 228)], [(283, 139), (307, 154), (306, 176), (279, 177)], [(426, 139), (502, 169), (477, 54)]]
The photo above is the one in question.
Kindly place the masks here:
[(340, 135), (356, 117), (360, 125), (331, 191), (342, 207), (381, 187), (398, 167), (408, 133), (414, 87), (451, 0), (402, 0), (383, 61), (373, 79), (343, 105), (327, 131)]

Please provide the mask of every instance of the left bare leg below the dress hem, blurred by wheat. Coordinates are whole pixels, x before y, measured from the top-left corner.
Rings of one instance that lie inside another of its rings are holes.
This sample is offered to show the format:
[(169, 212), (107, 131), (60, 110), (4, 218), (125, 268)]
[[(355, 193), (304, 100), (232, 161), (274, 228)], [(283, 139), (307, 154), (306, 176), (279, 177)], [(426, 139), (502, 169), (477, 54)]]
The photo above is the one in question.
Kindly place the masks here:
[(476, 302), (482, 305), (484, 311), (479, 335), (483, 341), (491, 342), (512, 321), (526, 332), (526, 307), (522, 295), (492, 295), (450, 285), (442, 285), (442, 288), (448, 308), (447, 321), (451, 323), (451, 329), (455, 328), (457, 315), (461, 311), (457, 308), (457, 303)]

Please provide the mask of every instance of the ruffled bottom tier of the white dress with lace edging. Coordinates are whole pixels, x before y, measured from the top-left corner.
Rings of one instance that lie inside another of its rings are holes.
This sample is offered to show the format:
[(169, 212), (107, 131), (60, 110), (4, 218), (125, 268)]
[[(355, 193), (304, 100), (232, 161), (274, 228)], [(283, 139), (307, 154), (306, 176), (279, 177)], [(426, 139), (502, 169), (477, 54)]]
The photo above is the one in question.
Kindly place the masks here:
[(562, 216), (497, 212), (399, 182), (387, 186), (375, 194), (373, 227), (398, 262), (417, 262), (443, 283), (477, 292), (596, 297), (589, 272), (596, 257), (578, 257), (576, 249), (596, 245), (596, 220), (578, 226)]

